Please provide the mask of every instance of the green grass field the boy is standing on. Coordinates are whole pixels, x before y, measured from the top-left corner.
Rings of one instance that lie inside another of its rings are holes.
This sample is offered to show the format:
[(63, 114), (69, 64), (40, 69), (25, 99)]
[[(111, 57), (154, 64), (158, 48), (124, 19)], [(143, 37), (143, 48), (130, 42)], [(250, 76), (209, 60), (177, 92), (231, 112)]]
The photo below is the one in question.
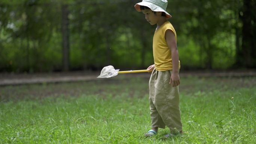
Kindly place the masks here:
[(255, 144), (256, 77), (181, 79), (184, 135), (150, 129), (146, 78), (0, 87), (0, 144)]

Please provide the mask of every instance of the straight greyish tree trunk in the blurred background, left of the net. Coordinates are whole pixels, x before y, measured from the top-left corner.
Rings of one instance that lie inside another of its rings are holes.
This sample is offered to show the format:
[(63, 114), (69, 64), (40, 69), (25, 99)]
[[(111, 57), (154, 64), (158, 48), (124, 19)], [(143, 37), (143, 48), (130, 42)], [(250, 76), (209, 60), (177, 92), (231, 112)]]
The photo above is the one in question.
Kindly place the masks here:
[(68, 5), (63, 4), (61, 6), (62, 11), (62, 23), (61, 23), (61, 31), (62, 31), (62, 64), (63, 71), (69, 70), (69, 31), (68, 31)]

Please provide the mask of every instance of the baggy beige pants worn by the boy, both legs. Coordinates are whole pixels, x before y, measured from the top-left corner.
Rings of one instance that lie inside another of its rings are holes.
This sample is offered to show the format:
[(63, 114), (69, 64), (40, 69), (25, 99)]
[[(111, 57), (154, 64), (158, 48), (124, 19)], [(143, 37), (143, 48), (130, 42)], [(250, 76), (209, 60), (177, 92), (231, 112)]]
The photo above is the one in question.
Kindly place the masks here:
[(171, 70), (153, 70), (149, 80), (149, 104), (152, 128), (170, 128), (171, 132), (182, 131), (180, 119), (179, 86), (172, 87)]

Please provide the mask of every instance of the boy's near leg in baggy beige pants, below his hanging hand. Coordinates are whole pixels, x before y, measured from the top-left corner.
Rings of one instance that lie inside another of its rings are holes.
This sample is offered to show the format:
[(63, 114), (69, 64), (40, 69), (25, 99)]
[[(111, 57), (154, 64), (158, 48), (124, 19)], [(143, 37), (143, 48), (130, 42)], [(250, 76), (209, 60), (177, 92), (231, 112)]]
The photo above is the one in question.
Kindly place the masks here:
[(182, 123), (179, 108), (179, 87), (172, 87), (169, 84), (171, 71), (157, 71), (156, 77), (154, 96), (152, 96), (155, 98), (152, 100), (155, 110), (172, 133), (180, 132), (182, 131)]

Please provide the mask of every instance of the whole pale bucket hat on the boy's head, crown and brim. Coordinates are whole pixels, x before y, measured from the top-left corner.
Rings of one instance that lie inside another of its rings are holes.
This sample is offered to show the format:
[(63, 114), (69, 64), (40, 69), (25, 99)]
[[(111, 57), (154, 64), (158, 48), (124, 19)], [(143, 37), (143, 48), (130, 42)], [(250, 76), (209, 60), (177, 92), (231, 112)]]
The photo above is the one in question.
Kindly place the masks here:
[(142, 0), (142, 2), (135, 4), (135, 9), (141, 12), (140, 6), (149, 7), (154, 12), (165, 12), (165, 18), (171, 18), (171, 15), (166, 12), (167, 0)]

